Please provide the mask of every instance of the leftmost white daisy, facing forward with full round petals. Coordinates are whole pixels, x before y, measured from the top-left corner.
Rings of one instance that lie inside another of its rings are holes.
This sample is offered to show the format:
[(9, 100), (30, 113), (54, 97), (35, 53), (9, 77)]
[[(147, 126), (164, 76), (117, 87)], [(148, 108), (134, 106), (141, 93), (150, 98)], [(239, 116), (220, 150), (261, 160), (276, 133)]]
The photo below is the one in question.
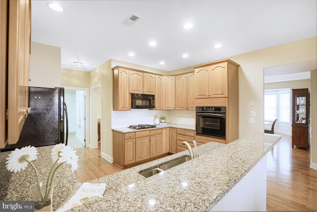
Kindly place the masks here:
[(28, 166), (28, 161), (32, 161), (38, 158), (38, 150), (35, 147), (22, 147), (21, 149), (15, 149), (8, 155), (6, 158), (6, 168), (9, 171), (13, 171), (14, 173), (20, 171), (21, 169), (24, 170), (26, 166)]

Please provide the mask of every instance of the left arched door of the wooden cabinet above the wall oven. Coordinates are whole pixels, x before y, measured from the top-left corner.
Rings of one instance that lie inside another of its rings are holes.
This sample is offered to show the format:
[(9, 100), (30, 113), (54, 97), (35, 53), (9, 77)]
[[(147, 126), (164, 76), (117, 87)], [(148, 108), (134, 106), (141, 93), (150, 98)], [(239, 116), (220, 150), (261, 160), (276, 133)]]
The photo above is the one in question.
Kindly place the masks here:
[(209, 98), (210, 95), (209, 67), (195, 69), (196, 99)]

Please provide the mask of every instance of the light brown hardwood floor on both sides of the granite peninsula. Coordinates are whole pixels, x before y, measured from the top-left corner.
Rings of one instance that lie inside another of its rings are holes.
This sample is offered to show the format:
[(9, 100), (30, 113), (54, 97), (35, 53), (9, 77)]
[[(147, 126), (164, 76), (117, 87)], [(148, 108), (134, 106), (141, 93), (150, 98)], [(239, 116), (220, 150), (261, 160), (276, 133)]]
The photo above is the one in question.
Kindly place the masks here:
[[(316, 170), (310, 168), (310, 152), (293, 149), (291, 138), (282, 139), (267, 154), (266, 211), (315, 211)], [(100, 157), (98, 149), (77, 149), (81, 182), (87, 182), (123, 169)]]

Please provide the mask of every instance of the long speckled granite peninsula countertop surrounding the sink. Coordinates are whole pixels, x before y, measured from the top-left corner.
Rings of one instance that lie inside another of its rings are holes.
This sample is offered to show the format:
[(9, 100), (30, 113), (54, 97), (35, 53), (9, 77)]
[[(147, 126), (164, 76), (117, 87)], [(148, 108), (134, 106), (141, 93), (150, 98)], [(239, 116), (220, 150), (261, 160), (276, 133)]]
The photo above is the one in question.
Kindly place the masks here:
[(149, 178), (138, 172), (188, 155), (188, 151), (92, 180), (106, 183), (103, 198), (71, 211), (209, 211), (280, 140), (255, 133), (229, 144), (198, 147), (200, 157)]

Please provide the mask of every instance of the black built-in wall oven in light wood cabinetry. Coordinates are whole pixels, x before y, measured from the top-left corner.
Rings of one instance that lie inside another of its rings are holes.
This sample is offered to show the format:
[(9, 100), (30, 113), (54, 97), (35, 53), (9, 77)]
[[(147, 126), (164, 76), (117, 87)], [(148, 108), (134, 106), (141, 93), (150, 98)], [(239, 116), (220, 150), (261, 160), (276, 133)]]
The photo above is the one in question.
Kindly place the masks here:
[(196, 106), (196, 134), (226, 138), (226, 107)]

